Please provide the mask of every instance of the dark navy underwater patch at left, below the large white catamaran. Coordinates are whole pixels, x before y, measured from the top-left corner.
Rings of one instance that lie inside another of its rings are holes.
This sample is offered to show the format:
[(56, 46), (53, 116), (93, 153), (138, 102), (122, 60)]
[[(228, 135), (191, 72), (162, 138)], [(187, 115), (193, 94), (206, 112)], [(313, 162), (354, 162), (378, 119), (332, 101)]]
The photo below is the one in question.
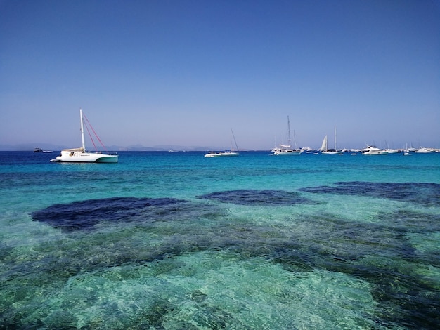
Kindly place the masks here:
[(188, 202), (173, 198), (135, 198), (113, 197), (89, 199), (68, 204), (54, 204), (32, 213), (32, 219), (48, 223), (63, 230), (88, 230), (101, 221), (113, 223), (145, 220), (155, 214), (151, 220), (157, 220), (157, 214), (167, 218), (176, 207)]

